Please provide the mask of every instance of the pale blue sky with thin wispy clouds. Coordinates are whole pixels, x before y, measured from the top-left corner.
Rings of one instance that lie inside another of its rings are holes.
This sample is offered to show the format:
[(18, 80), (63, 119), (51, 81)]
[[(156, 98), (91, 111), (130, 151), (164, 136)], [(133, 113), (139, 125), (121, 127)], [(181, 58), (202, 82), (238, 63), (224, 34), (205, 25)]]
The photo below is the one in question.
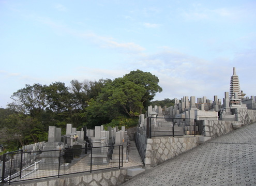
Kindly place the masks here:
[(256, 1), (0, 0), (0, 107), (26, 84), (156, 75), (154, 100), (256, 96)]

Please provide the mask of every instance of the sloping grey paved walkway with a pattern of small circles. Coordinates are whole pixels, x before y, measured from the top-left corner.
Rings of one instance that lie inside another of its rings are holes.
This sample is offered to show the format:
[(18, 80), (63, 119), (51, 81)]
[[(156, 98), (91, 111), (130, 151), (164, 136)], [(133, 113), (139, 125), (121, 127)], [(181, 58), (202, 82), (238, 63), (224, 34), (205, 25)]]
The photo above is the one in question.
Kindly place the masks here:
[(256, 185), (256, 123), (147, 169), (125, 185)]

